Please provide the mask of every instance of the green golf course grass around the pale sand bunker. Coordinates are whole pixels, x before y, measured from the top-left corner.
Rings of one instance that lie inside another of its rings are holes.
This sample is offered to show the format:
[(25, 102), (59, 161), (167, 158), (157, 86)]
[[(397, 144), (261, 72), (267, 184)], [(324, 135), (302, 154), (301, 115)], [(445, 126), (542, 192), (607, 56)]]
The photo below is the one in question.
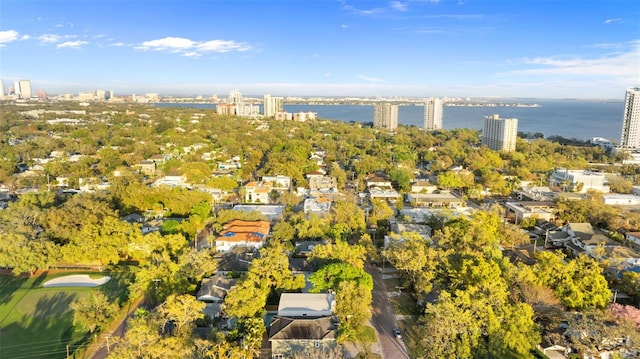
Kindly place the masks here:
[[(42, 287), (47, 280), (70, 274), (110, 275), (112, 280), (94, 288)], [(0, 276), (0, 358), (65, 358), (67, 346), (73, 352), (87, 338), (84, 330), (74, 328), (69, 304), (94, 291), (121, 301), (124, 277), (96, 272), (45, 273), (32, 278)]]

